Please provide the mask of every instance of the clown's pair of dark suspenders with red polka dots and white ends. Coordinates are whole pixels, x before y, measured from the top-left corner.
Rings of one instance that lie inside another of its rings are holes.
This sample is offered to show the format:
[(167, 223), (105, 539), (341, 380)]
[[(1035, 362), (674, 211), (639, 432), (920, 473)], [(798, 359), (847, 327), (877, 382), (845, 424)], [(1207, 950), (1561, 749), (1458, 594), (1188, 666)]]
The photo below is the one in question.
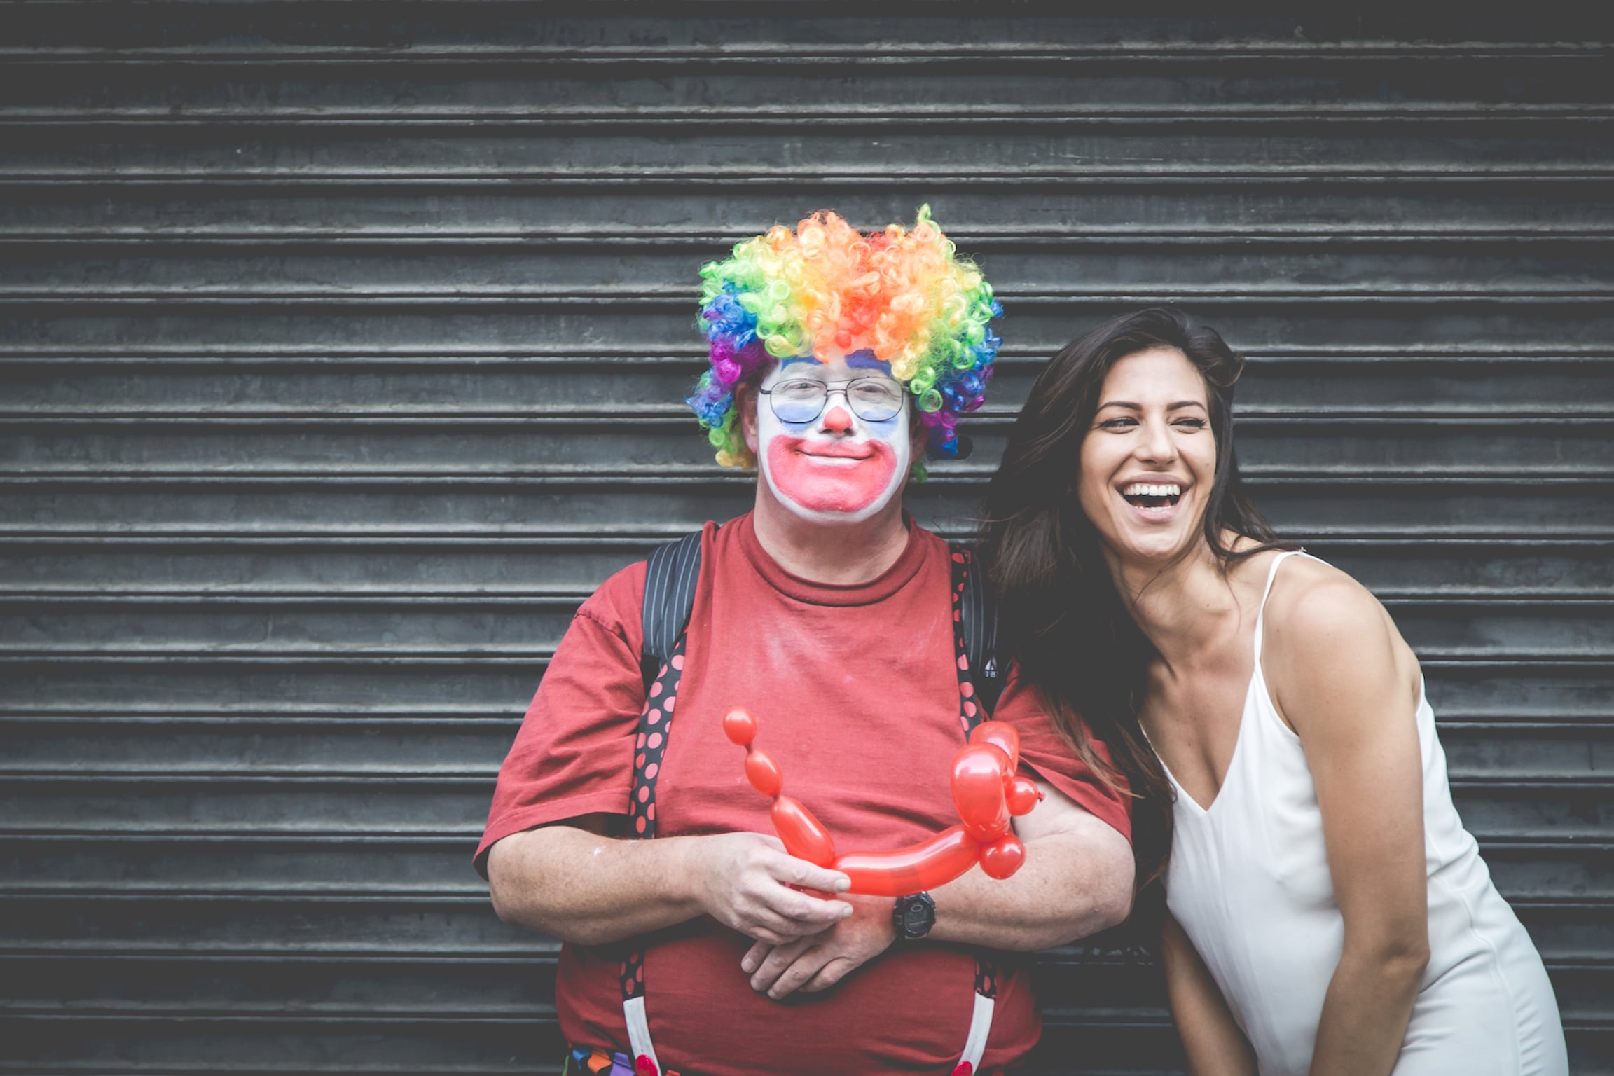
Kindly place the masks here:
[[(970, 676), (970, 657), (965, 645), (964, 594), (970, 586), (973, 550), (952, 547), (952, 640), (954, 668), (959, 674), (959, 724), (965, 737), (988, 715), (985, 702), (975, 694)], [(678, 707), (678, 684), (684, 671), (684, 644), (688, 628), (673, 644), (671, 658), (660, 666), (646, 690), (644, 710), (639, 713), (639, 732), (634, 739), (633, 790), (629, 794), (628, 837), (649, 840), (655, 836), (655, 786), (667, 755), (667, 739), (673, 731), (673, 713)], [(965, 1039), (964, 1057), (952, 1076), (972, 1076), (981, 1063), (986, 1036), (991, 1031), (991, 1011), (997, 997), (997, 968), (986, 950), (975, 957), (975, 1013)], [(650, 1031), (644, 1016), (644, 950), (628, 953), (621, 963), (621, 1000), (628, 1018), (628, 1039), (633, 1047), (634, 1068), (639, 1076), (678, 1076), (662, 1073), (650, 1044)]]

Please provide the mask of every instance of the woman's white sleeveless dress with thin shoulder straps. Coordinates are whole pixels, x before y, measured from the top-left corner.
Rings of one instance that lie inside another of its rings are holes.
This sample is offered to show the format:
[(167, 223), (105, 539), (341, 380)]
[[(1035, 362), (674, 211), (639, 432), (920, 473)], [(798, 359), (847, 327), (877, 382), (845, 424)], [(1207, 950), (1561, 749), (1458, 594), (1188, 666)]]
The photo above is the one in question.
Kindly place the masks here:
[[(1306, 1076), (1344, 937), (1311, 766), (1261, 671), (1267, 595), (1290, 555), (1273, 558), (1261, 595), (1254, 671), (1220, 792), (1201, 808), (1167, 769), (1177, 794), (1167, 907), (1222, 987), (1261, 1076)], [(1564, 1076), (1553, 986), (1451, 803), (1422, 684), (1415, 721), (1430, 961), (1393, 1076)]]

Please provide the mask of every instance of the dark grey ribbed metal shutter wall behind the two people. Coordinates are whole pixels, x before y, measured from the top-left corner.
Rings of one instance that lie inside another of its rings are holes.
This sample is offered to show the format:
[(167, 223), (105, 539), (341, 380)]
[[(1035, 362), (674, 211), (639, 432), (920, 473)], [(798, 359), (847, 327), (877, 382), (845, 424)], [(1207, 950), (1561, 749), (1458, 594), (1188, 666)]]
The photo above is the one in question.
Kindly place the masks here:
[[(0, 1071), (554, 1071), (468, 860), (571, 608), (746, 507), (696, 269), (922, 202), (1009, 313), (918, 515), (1078, 329), (1220, 326), (1614, 1071), (1614, 26), (1102, 6), (0, 5)], [(1146, 963), (1044, 997), (1173, 1071)]]

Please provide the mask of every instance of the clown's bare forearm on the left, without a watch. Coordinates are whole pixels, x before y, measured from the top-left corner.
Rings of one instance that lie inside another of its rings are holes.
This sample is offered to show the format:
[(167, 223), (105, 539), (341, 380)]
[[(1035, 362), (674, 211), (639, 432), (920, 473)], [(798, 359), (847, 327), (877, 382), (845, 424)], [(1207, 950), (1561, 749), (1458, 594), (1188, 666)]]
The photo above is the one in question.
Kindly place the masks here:
[(575, 826), (505, 837), (487, 855), (494, 910), (505, 923), (602, 945), (702, 915), (689, 842), (617, 840)]

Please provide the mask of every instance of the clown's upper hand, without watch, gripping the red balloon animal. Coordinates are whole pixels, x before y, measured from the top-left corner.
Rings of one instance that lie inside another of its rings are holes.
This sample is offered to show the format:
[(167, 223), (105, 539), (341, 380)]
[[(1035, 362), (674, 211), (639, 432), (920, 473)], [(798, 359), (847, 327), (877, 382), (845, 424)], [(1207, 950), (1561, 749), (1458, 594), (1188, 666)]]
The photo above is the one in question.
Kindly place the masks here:
[(852, 907), (794, 889), (838, 894), (846, 874), (797, 860), (778, 837), (726, 832), (691, 837), (692, 878), (700, 907), (713, 920), (741, 934), (781, 945), (830, 929)]

